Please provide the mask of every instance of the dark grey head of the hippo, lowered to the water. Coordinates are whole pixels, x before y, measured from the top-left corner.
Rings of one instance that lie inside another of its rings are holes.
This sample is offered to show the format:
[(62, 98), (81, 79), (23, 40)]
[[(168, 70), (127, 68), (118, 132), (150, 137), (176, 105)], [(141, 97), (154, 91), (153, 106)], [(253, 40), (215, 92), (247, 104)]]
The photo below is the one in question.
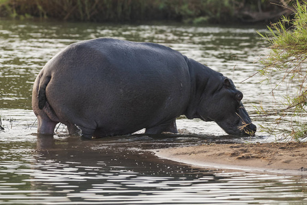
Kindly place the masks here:
[(241, 100), (242, 92), (236, 90), (232, 80), (221, 78), (221, 83), (211, 92), (201, 94), (197, 115), (204, 121), (214, 121), (230, 135), (254, 136), (256, 126), (251, 123)]

